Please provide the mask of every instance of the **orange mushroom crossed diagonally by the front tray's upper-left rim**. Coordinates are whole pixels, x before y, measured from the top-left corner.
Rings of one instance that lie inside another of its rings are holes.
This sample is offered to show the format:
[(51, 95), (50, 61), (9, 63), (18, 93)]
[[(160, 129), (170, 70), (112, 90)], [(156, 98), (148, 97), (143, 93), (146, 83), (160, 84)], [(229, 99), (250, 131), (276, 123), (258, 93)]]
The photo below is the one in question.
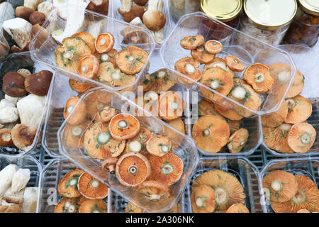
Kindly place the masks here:
[[(75, 108), (76, 105), (77, 107)], [(72, 115), (70, 115), (71, 112)], [(72, 96), (67, 99), (67, 102), (65, 103), (65, 110), (63, 111), (63, 116), (65, 119), (67, 119), (67, 123), (71, 125), (79, 125), (80, 123), (84, 122), (86, 117), (85, 101), (80, 99), (79, 96)]]

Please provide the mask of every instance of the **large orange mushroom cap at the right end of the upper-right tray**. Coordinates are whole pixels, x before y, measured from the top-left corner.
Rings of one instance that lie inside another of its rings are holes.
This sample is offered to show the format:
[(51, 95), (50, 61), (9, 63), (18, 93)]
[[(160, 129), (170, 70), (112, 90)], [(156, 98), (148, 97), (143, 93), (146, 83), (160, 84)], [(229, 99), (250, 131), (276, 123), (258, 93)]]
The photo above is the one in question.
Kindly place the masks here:
[(274, 79), (270, 76), (269, 67), (259, 62), (248, 66), (243, 78), (259, 93), (267, 93), (274, 86)]

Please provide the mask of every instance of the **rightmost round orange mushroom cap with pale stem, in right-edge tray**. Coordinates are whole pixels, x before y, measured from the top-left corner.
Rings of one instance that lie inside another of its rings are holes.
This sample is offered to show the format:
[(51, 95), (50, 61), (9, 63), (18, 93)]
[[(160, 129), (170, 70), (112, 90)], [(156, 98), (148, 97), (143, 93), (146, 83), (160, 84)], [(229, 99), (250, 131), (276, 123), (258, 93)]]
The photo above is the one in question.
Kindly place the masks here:
[(297, 123), (289, 129), (287, 143), (296, 153), (306, 153), (315, 143), (316, 131), (310, 123)]

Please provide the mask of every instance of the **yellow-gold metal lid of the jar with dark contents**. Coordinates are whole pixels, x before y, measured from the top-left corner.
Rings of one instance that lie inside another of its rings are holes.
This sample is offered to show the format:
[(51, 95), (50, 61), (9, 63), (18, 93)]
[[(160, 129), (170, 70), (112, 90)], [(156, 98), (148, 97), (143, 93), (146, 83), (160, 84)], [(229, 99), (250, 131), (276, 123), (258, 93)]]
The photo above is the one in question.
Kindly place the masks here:
[(242, 0), (201, 0), (201, 11), (219, 21), (231, 21), (241, 10)]

